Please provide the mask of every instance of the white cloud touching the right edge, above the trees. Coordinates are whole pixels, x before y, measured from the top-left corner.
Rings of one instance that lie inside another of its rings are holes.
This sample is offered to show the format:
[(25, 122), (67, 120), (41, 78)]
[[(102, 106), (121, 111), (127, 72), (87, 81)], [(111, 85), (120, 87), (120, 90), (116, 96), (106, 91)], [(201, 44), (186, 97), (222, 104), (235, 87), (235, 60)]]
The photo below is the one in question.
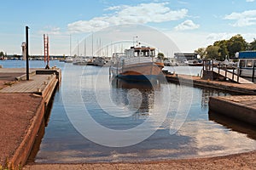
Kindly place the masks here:
[(236, 20), (232, 26), (243, 27), (256, 25), (256, 10), (247, 10), (242, 13), (232, 13), (224, 17), (224, 20)]

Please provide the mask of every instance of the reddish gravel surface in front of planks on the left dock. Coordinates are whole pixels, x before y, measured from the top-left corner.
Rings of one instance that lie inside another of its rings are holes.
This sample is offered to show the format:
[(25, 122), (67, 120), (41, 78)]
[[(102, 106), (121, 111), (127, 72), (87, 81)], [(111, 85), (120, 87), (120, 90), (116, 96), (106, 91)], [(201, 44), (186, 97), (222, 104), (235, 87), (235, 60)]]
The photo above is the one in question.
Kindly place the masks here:
[(41, 100), (33, 94), (0, 94), (0, 165), (14, 155)]

